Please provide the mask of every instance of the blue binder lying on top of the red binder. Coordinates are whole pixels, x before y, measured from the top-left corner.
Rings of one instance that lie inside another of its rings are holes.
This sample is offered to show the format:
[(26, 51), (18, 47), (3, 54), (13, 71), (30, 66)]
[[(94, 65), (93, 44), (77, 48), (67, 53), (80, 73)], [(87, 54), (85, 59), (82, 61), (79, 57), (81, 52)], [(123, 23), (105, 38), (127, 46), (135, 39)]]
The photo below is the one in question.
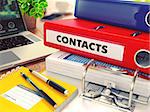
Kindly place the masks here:
[[(75, 16), (150, 32), (150, 3), (128, 0), (77, 0)], [(89, 10), (90, 9), (90, 10)]]

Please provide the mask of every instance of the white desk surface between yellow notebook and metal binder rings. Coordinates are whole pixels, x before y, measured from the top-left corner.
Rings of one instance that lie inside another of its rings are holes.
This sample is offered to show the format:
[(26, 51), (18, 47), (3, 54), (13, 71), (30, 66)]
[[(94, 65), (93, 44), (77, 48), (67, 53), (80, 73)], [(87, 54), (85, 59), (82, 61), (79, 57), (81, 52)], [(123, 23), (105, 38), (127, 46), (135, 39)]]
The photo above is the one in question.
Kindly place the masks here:
[[(75, 85), (79, 89), (79, 95), (81, 94), (81, 80), (50, 72), (44, 73), (64, 82)], [(108, 105), (102, 103), (83, 100), (81, 97), (79, 97), (79, 95), (69, 105), (67, 105), (62, 112), (122, 112), (117, 109), (110, 108)], [(149, 105), (137, 104), (134, 112), (150, 112), (150, 103)]]

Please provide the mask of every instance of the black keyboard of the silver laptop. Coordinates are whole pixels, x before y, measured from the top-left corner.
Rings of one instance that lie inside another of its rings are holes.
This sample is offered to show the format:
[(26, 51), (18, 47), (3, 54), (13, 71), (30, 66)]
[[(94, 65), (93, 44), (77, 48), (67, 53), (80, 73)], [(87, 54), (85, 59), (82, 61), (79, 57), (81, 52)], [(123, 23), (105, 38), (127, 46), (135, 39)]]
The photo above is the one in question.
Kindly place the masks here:
[(0, 39), (0, 51), (15, 47), (32, 44), (33, 42), (24, 36), (15, 36), (6, 39)]

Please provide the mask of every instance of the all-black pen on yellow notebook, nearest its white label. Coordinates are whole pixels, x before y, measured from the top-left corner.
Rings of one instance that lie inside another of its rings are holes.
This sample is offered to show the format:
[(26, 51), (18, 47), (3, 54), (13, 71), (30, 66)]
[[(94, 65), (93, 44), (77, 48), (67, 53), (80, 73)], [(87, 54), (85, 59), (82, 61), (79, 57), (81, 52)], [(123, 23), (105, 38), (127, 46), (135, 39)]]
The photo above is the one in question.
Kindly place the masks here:
[(49, 102), (54, 108), (57, 107), (57, 104), (40, 88), (38, 88), (24, 73), (21, 73), (22, 77), (28, 81), (32, 86), (38, 91), (38, 94), (44, 98), (47, 102)]

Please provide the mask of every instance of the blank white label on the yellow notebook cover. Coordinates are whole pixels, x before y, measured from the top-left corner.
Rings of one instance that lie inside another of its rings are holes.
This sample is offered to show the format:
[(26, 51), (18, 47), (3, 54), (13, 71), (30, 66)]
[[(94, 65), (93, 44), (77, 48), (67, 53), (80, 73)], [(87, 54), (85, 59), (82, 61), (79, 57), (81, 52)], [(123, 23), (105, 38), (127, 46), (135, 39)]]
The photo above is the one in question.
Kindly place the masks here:
[(20, 88), (19, 86), (12, 88), (2, 96), (10, 102), (17, 104), (26, 110), (31, 109), (41, 100), (41, 97), (39, 97), (38, 95)]

